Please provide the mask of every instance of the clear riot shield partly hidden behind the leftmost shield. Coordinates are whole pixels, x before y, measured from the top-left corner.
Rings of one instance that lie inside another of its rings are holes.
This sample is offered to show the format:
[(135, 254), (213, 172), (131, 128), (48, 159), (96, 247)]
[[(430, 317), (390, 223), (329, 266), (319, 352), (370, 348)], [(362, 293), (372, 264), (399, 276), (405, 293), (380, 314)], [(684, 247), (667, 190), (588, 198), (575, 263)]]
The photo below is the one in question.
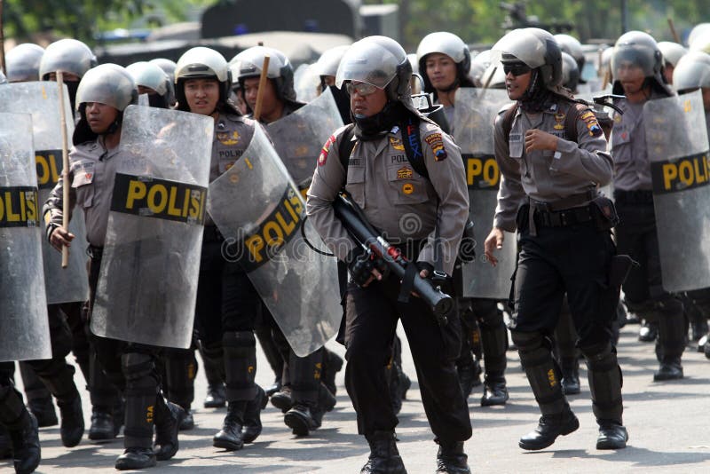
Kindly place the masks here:
[[(64, 107), (67, 116), (67, 136), (74, 132), (71, 102), (64, 89)], [(37, 184), (39, 201), (47, 201), (57, 185), (62, 172), (61, 120), (57, 83), (12, 83), (0, 88), (0, 111), (32, 115), (35, 139)], [(61, 254), (46, 239), (42, 243), (44, 280), (47, 303), (59, 304), (85, 301), (89, 298), (89, 281), (86, 275), (86, 228), (83, 210), (76, 206), (69, 223), (69, 232), (75, 235), (75, 246), (69, 251), (69, 265), (61, 268)]]

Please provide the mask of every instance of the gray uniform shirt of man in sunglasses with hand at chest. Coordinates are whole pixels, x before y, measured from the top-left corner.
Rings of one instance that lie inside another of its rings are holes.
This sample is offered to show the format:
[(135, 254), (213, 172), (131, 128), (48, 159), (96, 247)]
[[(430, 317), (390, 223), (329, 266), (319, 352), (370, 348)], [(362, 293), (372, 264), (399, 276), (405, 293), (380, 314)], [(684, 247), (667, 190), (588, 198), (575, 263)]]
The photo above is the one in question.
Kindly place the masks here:
[[(512, 107), (512, 106), (511, 106)], [(606, 153), (606, 138), (594, 114), (581, 113), (577, 119), (577, 140), (566, 138), (564, 120), (572, 104), (560, 100), (540, 114), (528, 115), (518, 107), (509, 139), (502, 122), (506, 109), (495, 121), (495, 160), (501, 169), (501, 187), (493, 226), (516, 230), (517, 209), (525, 196), (540, 202), (555, 202), (604, 186), (611, 180), (613, 162)], [(525, 152), (525, 132), (539, 129), (557, 138), (552, 150)], [(594, 130), (594, 131), (593, 131)]]

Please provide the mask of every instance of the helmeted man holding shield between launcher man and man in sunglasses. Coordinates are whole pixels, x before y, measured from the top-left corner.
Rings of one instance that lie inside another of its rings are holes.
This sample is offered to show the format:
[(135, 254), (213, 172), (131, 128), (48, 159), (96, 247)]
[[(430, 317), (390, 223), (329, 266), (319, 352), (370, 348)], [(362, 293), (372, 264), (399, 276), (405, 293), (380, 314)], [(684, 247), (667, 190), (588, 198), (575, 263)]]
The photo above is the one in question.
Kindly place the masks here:
[[(454, 96), (460, 87), (473, 87), (469, 78), (471, 65), (469, 47), (460, 37), (448, 32), (424, 36), (417, 48), (419, 69), (424, 79), (424, 91), (433, 93), (444, 106), (446, 119), (454, 130)], [(476, 206), (476, 202), (471, 202)], [(458, 277), (458, 275), (457, 275)], [(508, 330), (503, 322), (498, 302), (490, 298), (459, 298), (463, 327), (466, 328), (461, 357), (456, 361), (461, 388), (466, 397), (477, 384), (480, 374), (478, 359), (471, 351), (479, 346), (485, 360), (484, 393), (481, 406), (505, 405), (509, 398), (506, 387)], [(478, 342), (479, 341), (479, 342)]]

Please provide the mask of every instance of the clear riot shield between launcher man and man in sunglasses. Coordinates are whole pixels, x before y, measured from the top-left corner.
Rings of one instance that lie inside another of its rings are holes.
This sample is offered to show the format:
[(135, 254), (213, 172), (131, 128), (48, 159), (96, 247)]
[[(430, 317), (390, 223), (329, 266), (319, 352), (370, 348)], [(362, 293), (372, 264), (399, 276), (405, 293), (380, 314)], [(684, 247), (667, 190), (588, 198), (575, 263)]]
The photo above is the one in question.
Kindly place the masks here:
[[(456, 91), (454, 140), (461, 146), (469, 186), (470, 217), (475, 225), (477, 240), (481, 243), (493, 227), (501, 181), (493, 148), (493, 123), (501, 107), (509, 103), (506, 91), (474, 88)], [(516, 268), (515, 234), (506, 233), (495, 267), (483, 255), (483, 245), (477, 247), (476, 261), (461, 267), (461, 296), (508, 298), (510, 277)]]

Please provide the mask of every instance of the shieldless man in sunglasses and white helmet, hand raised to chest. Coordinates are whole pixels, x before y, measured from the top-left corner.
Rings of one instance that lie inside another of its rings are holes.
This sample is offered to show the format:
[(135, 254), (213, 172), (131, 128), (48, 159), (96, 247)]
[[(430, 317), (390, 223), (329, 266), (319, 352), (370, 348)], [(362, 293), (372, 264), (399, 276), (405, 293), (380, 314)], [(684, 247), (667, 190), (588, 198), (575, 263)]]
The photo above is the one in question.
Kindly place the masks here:
[[(621, 370), (611, 343), (620, 285), (610, 276), (613, 204), (596, 190), (611, 179), (604, 132), (594, 113), (580, 109), (559, 87), (560, 49), (547, 31), (514, 30), (493, 51), (501, 54), (508, 95), (516, 103), (495, 122), (495, 159), (502, 178), (485, 256), (495, 265), (493, 250), (502, 247), (502, 231), (517, 229), (510, 329), (542, 413), (538, 426), (518, 445), (543, 449), (580, 426), (552, 357), (551, 336), (566, 291), (580, 350), (588, 360), (599, 425), (596, 447), (622, 448), (628, 435), (621, 419)], [(575, 107), (577, 137), (568, 137), (558, 124)]]

